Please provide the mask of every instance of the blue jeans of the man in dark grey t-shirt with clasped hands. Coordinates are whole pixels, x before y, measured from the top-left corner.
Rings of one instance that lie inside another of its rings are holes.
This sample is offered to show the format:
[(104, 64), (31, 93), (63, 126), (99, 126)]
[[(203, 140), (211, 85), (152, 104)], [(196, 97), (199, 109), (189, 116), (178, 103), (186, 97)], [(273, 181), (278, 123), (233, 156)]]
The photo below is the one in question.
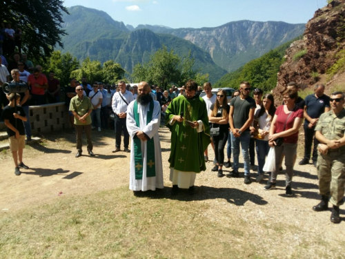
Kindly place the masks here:
[(249, 141), (250, 132), (245, 131), (239, 137), (235, 137), (233, 133), (231, 135), (231, 149), (233, 151), (233, 169), (238, 172), (239, 164), (239, 144), (241, 143), (242, 155), (244, 158), (244, 175), (249, 175), (250, 161), (249, 161)]

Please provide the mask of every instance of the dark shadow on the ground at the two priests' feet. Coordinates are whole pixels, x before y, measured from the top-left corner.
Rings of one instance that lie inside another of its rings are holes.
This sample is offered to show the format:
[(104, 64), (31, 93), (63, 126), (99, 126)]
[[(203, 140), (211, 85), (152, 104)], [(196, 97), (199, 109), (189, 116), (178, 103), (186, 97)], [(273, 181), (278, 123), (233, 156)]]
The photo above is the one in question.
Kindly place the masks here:
[(257, 205), (266, 205), (268, 202), (261, 196), (248, 193), (235, 188), (215, 188), (210, 186), (195, 186), (195, 194), (190, 195), (188, 189), (179, 189), (179, 194), (171, 195), (171, 187), (164, 186), (164, 189), (160, 189), (156, 192), (142, 192), (141, 196), (152, 199), (171, 199), (180, 200), (184, 202), (191, 202), (195, 200), (214, 200), (214, 199), (225, 199), (231, 204), (236, 206), (244, 206), (248, 201), (254, 202)]

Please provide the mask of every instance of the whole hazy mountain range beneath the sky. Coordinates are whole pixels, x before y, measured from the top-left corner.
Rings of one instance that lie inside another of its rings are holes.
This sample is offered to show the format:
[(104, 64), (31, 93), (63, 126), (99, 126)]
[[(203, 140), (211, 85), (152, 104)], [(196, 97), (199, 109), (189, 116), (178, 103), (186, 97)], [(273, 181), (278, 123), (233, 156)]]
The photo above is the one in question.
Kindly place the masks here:
[(304, 24), (246, 20), (216, 28), (134, 28), (100, 10), (73, 6), (68, 12), (70, 15), (63, 15), (63, 29), (68, 35), (62, 37), (62, 52), (81, 60), (113, 59), (132, 73), (137, 63), (144, 64), (164, 44), (181, 57), (191, 52), (195, 68), (208, 73), (213, 82), (304, 32)]

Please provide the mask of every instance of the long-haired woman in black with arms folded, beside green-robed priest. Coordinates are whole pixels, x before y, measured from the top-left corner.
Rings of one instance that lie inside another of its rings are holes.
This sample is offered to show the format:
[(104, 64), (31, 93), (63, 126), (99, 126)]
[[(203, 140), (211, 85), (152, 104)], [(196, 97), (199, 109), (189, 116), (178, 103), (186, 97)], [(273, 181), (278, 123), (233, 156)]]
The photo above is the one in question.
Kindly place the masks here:
[(223, 163), (224, 163), (224, 147), (226, 140), (228, 140), (229, 126), (228, 126), (228, 115), (230, 106), (227, 104), (225, 90), (219, 90), (217, 93), (217, 100), (210, 109), (212, 110), (208, 115), (208, 119), (213, 123), (213, 128), (219, 128), (219, 135), (212, 136), (213, 144), (215, 145), (215, 158), (217, 164), (211, 171), (218, 171), (218, 177), (224, 176)]

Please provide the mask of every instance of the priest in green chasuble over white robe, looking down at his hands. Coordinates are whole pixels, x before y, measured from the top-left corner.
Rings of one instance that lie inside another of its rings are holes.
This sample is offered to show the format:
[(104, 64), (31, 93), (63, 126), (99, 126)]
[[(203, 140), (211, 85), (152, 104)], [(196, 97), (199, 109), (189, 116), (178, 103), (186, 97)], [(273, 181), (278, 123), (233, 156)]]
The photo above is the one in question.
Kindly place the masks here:
[(166, 109), (166, 126), (171, 131), (170, 180), (172, 194), (181, 189), (194, 192), (196, 173), (206, 170), (204, 151), (210, 144), (210, 127), (204, 99), (195, 96), (197, 84), (189, 80), (185, 93)]

